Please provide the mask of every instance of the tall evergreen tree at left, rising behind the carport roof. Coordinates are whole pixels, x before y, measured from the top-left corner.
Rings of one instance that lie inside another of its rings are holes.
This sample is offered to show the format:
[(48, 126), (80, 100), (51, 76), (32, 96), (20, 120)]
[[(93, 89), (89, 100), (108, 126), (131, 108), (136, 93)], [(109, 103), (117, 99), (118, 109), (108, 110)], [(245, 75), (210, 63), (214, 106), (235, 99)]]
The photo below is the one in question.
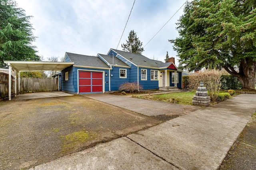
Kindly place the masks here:
[(40, 60), (36, 47), (31, 46), (36, 37), (32, 33), (30, 18), (15, 5), (0, 5), (0, 65), (4, 60)]

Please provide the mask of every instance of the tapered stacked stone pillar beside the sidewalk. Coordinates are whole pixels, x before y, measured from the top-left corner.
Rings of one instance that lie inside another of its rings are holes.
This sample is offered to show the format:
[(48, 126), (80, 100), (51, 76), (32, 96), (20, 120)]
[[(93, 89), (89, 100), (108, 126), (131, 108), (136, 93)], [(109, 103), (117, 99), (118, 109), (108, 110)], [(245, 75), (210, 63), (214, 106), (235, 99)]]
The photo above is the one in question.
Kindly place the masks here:
[(209, 106), (211, 102), (210, 96), (206, 87), (198, 87), (196, 91), (196, 96), (193, 97), (192, 104), (200, 106)]

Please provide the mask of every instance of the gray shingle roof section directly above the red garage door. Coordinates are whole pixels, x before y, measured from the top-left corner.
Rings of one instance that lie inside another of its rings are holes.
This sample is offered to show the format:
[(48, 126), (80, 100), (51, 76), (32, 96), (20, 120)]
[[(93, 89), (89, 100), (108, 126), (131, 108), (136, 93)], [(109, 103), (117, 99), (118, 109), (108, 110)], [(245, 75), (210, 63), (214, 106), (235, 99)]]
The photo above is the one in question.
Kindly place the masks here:
[(110, 68), (104, 61), (96, 56), (80, 55), (74, 53), (67, 53), (68, 57), (76, 66), (90, 66), (100, 68)]

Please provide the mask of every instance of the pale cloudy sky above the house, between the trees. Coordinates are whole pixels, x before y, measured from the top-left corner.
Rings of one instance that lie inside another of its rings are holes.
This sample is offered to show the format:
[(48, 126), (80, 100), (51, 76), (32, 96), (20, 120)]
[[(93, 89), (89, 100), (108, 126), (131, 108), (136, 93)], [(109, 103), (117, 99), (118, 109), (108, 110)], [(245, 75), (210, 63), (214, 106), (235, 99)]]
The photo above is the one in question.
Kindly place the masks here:
[[(106, 54), (116, 49), (134, 0), (16, 0), (27, 16), (33, 16), (33, 45), (38, 55), (64, 57), (65, 52), (82, 55)], [(174, 15), (186, 0), (136, 0), (124, 35), (118, 45), (126, 43), (133, 29), (144, 45)], [(184, 6), (144, 47), (142, 55), (164, 61), (176, 52), (168, 39), (178, 37), (178, 19)]]

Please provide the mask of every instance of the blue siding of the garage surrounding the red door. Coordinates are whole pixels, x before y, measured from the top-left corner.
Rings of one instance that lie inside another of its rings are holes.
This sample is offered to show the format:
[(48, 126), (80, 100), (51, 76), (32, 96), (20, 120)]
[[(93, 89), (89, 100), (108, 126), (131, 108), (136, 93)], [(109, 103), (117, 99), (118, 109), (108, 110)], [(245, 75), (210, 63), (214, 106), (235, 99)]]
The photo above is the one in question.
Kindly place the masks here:
[[(78, 75), (77, 75), (77, 70), (92, 70), (92, 71), (104, 71), (105, 73), (107, 72), (108, 74), (108, 70), (104, 70), (104, 69), (94, 69), (94, 68), (80, 68), (80, 67), (74, 67), (74, 66), (70, 66), (64, 70), (62, 70), (62, 90), (65, 91), (69, 91), (69, 92), (78, 92)], [(65, 81), (65, 72), (68, 71), (68, 81)], [(108, 76), (105, 76), (104, 73), (104, 78), (105, 78), (105, 82), (104, 82), (104, 86), (105, 86), (105, 91), (109, 91), (109, 81), (108, 81)]]

